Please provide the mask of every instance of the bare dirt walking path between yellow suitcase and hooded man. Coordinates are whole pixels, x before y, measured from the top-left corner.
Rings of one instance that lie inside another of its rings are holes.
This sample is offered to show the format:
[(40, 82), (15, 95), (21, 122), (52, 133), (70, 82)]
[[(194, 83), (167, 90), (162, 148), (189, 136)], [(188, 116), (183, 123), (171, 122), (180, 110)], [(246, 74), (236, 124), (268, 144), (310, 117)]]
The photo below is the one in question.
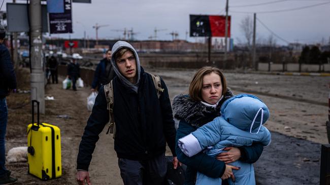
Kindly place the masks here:
[[(90, 112), (86, 108), (86, 100), (90, 94), (90, 87), (78, 88), (78, 91), (63, 90), (60, 85), (49, 87), (49, 93), (59, 96), (60, 105), (64, 114), (72, 119), (62, 122), (62, 165), (67, 184), (76, 184), (76, 159), (83, 129), (87, 123)], [(72, 101), (70, 101), (72, 100)], [(57, 106), (56, 106), (57, 107)], [(60, 119), (60, 118), (57, 118)], [(59, 122), (63, 119), (58, 120)], [(89, 167), (92, 184), (122, 184), (117, 156), (113, 148), (112, 135), (106, 134), (106, 129), (100, 134), (96, 144), (91, 165)], [(64, 168), (66, 167), (66, 169)], [(54, 180), (55, 181), (55, 180)], [(60, 183), (51, 183), (60, 184)]]

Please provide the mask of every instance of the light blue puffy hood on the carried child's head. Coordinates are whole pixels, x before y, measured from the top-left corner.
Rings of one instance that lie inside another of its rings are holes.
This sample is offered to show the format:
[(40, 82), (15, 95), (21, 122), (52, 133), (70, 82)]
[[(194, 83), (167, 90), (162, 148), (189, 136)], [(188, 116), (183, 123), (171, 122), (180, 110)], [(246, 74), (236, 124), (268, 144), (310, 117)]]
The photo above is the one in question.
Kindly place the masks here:
[(260, 128), (261, 120), (262, 124), (265, 123), (270, 114), (265, 103), (249, 94), (229, 98), (222, 104), (220, 113), (230, 124), (250, 131)]

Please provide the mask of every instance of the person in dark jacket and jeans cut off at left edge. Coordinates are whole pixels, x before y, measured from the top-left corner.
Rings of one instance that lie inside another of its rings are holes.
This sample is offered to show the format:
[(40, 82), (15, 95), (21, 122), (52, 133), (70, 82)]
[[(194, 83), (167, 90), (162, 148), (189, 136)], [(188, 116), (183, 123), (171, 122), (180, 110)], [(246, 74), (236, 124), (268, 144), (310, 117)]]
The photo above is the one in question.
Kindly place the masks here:
[(11, 90), (16, 89), (16, 75), (8, 49), (5, 47), (4, 39), (6, 30), (0, 25), (0, 184), (12, 184), (17, 178), (10, 176), (6, 169), (6, 128), (8, 121), (8, 108), (6, 96)]

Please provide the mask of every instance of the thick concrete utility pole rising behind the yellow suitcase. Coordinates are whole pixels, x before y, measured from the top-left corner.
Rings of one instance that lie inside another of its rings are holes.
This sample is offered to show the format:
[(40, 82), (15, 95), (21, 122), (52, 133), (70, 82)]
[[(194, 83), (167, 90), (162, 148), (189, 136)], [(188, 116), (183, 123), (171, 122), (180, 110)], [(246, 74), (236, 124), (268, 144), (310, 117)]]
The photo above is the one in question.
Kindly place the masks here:
[(40, 113), (45, 114), (45, 75), (42, 59), (41, 0), (30, 0), (29, 14), (31, 34), (31, 100), (39, 101)]

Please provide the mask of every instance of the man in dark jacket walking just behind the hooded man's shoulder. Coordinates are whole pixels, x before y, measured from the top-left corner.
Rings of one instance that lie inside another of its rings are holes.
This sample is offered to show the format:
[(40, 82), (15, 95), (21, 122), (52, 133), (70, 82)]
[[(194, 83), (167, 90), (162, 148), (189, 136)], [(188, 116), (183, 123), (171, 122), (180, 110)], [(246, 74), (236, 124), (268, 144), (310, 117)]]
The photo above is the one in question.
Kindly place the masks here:
[(109, 83), (114, 76), (115, 71), (111, 65), (111, 50), (109, 49), (106, 52), (106, 58), (102, 59), (100, 63), (97, 64), (91, 90), (95, 91), (96, 88), (100, 90), (100, 87)]

